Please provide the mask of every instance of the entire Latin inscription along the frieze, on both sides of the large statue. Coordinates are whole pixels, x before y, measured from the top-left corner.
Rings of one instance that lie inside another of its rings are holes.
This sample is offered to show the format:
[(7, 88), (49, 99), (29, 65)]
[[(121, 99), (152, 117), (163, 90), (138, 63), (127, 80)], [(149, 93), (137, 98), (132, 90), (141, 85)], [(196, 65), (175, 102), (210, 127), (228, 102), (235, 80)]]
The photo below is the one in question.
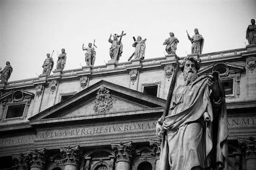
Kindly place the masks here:
[[(228, 117), (228, 127), (254, 127), (256, 126), (256, 117)], [(117, 133), (143, 132), (155, 130), (156, 121), (137, 122), (127, 124), (112, 124), (93, 127), (77, 127), (69, 129), (53, 129), (38, 132), (35, 135), (25, 135), (19, 137), (0, 138), (0, 147), (14, 145), (25, 145), (34, 143), (35, 140), (48, 140), (54, 138), (72, 138), (90, 135), (104, 135)]]

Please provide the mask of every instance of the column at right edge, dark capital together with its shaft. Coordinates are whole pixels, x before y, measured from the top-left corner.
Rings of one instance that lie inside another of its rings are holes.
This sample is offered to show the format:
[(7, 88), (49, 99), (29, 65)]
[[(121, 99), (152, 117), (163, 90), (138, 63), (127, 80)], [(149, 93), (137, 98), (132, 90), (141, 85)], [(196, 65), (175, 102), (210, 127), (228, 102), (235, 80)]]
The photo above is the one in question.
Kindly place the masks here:
[(246, 161), (246, 170), (256, 169), (256, 141), (254, 137), (239, 139)]

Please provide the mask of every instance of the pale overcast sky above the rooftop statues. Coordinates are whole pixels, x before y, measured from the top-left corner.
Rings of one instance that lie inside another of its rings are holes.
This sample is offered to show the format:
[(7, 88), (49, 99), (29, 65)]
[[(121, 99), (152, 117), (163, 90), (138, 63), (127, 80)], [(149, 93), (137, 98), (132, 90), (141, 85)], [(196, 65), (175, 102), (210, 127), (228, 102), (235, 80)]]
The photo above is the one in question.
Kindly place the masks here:
[(94, 66), (110, 60), (112, 33), (126, 36), (119, 62), (134, 52), (132, 36), (147, 38), (145, 59), (164, 57), (164, 40), (178, 38), (177, 56), (190, 54), (186, 30), (194, 28), (205, 39), (203, 53), (245, 48), (245, 31), (256, 19), (255, 0), (0, 0), (0, 66), (13, 67), (10, 81), (38, 77), (46, 53), (53, 53), (54, 68), (61, 49), (66, 49), (64, 70), (85, 64), (85, 46), (95, 40)]

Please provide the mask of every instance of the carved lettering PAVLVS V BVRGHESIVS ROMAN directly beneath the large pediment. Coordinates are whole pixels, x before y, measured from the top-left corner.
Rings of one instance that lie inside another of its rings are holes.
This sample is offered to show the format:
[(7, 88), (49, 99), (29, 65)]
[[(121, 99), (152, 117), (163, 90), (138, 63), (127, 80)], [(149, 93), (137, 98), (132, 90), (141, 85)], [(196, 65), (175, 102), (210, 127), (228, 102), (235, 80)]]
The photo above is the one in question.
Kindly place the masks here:
[(133, 124), (104, 125), (98, 127), (79, 127), (74, 129), (48, 130), (38, 132), (36, 138), (45, 140), (51, 138), (83, 137), (88, 135), (116, 134), (143, 130), (155, 130), (156, 122), (140, 122)]

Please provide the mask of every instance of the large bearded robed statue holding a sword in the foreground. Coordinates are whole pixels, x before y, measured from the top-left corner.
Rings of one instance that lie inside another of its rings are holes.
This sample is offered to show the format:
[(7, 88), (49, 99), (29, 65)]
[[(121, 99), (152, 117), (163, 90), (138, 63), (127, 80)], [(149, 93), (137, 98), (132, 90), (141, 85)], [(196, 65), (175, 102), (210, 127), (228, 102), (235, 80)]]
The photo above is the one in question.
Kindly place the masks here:
[(198, 77), (199, 62), (192, 56), (184, 58), (181, 70), (184, 85), (170, 93), (171, 84), (166, 114), (156, 124), (156, 136), (163, 138), (158, 170), (227, 169), (228, 121), (220, 75)]

